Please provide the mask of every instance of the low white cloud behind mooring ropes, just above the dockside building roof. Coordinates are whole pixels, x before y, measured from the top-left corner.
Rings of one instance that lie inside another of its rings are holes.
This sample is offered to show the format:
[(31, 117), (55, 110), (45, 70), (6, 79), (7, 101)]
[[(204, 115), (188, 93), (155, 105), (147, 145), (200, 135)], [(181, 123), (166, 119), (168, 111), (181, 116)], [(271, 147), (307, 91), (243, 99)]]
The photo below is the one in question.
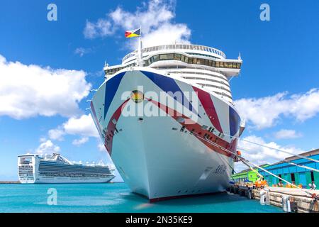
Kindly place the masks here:
[[(255, 145), (245, 140), (265, 145), (269, 148), (265, 148), (260, 145)], [(298, 148), (281, 146), (274, 142), (266, 143), (263, 138), (257, 137), (256, 135), (250, 135), (245, 138), (242, 138), (242, 140), (240, 140), (240, 142), (238, 143), (238, 150), (242, 151), (242, 157), (245, 157), (247, 160), (250, 160), (256, 165), (262, 165), (266, 163), (272, 164), (274, 162), (283, 160), (285, 157), (291, 156), (289, 154), (283, 153), (279, 150), (274, 150), (272, 148), (284, 150), (288, 153), (293, 153), (294, 155), (305, 152)], [(243, 167), (243, 165), (236, 165), (237, 170), (239, 167)]]

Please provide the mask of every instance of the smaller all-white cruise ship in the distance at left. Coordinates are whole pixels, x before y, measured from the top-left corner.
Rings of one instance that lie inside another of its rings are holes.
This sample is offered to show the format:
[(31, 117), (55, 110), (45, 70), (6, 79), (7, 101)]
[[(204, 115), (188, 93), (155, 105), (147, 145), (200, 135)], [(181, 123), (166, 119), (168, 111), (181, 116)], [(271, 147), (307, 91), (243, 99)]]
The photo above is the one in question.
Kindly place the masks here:
[(115, 177), (108, 165), (82, 165), (69, 162), (58, 153), (18, 155), (18, 177), (24, 183), (104, 183)]

